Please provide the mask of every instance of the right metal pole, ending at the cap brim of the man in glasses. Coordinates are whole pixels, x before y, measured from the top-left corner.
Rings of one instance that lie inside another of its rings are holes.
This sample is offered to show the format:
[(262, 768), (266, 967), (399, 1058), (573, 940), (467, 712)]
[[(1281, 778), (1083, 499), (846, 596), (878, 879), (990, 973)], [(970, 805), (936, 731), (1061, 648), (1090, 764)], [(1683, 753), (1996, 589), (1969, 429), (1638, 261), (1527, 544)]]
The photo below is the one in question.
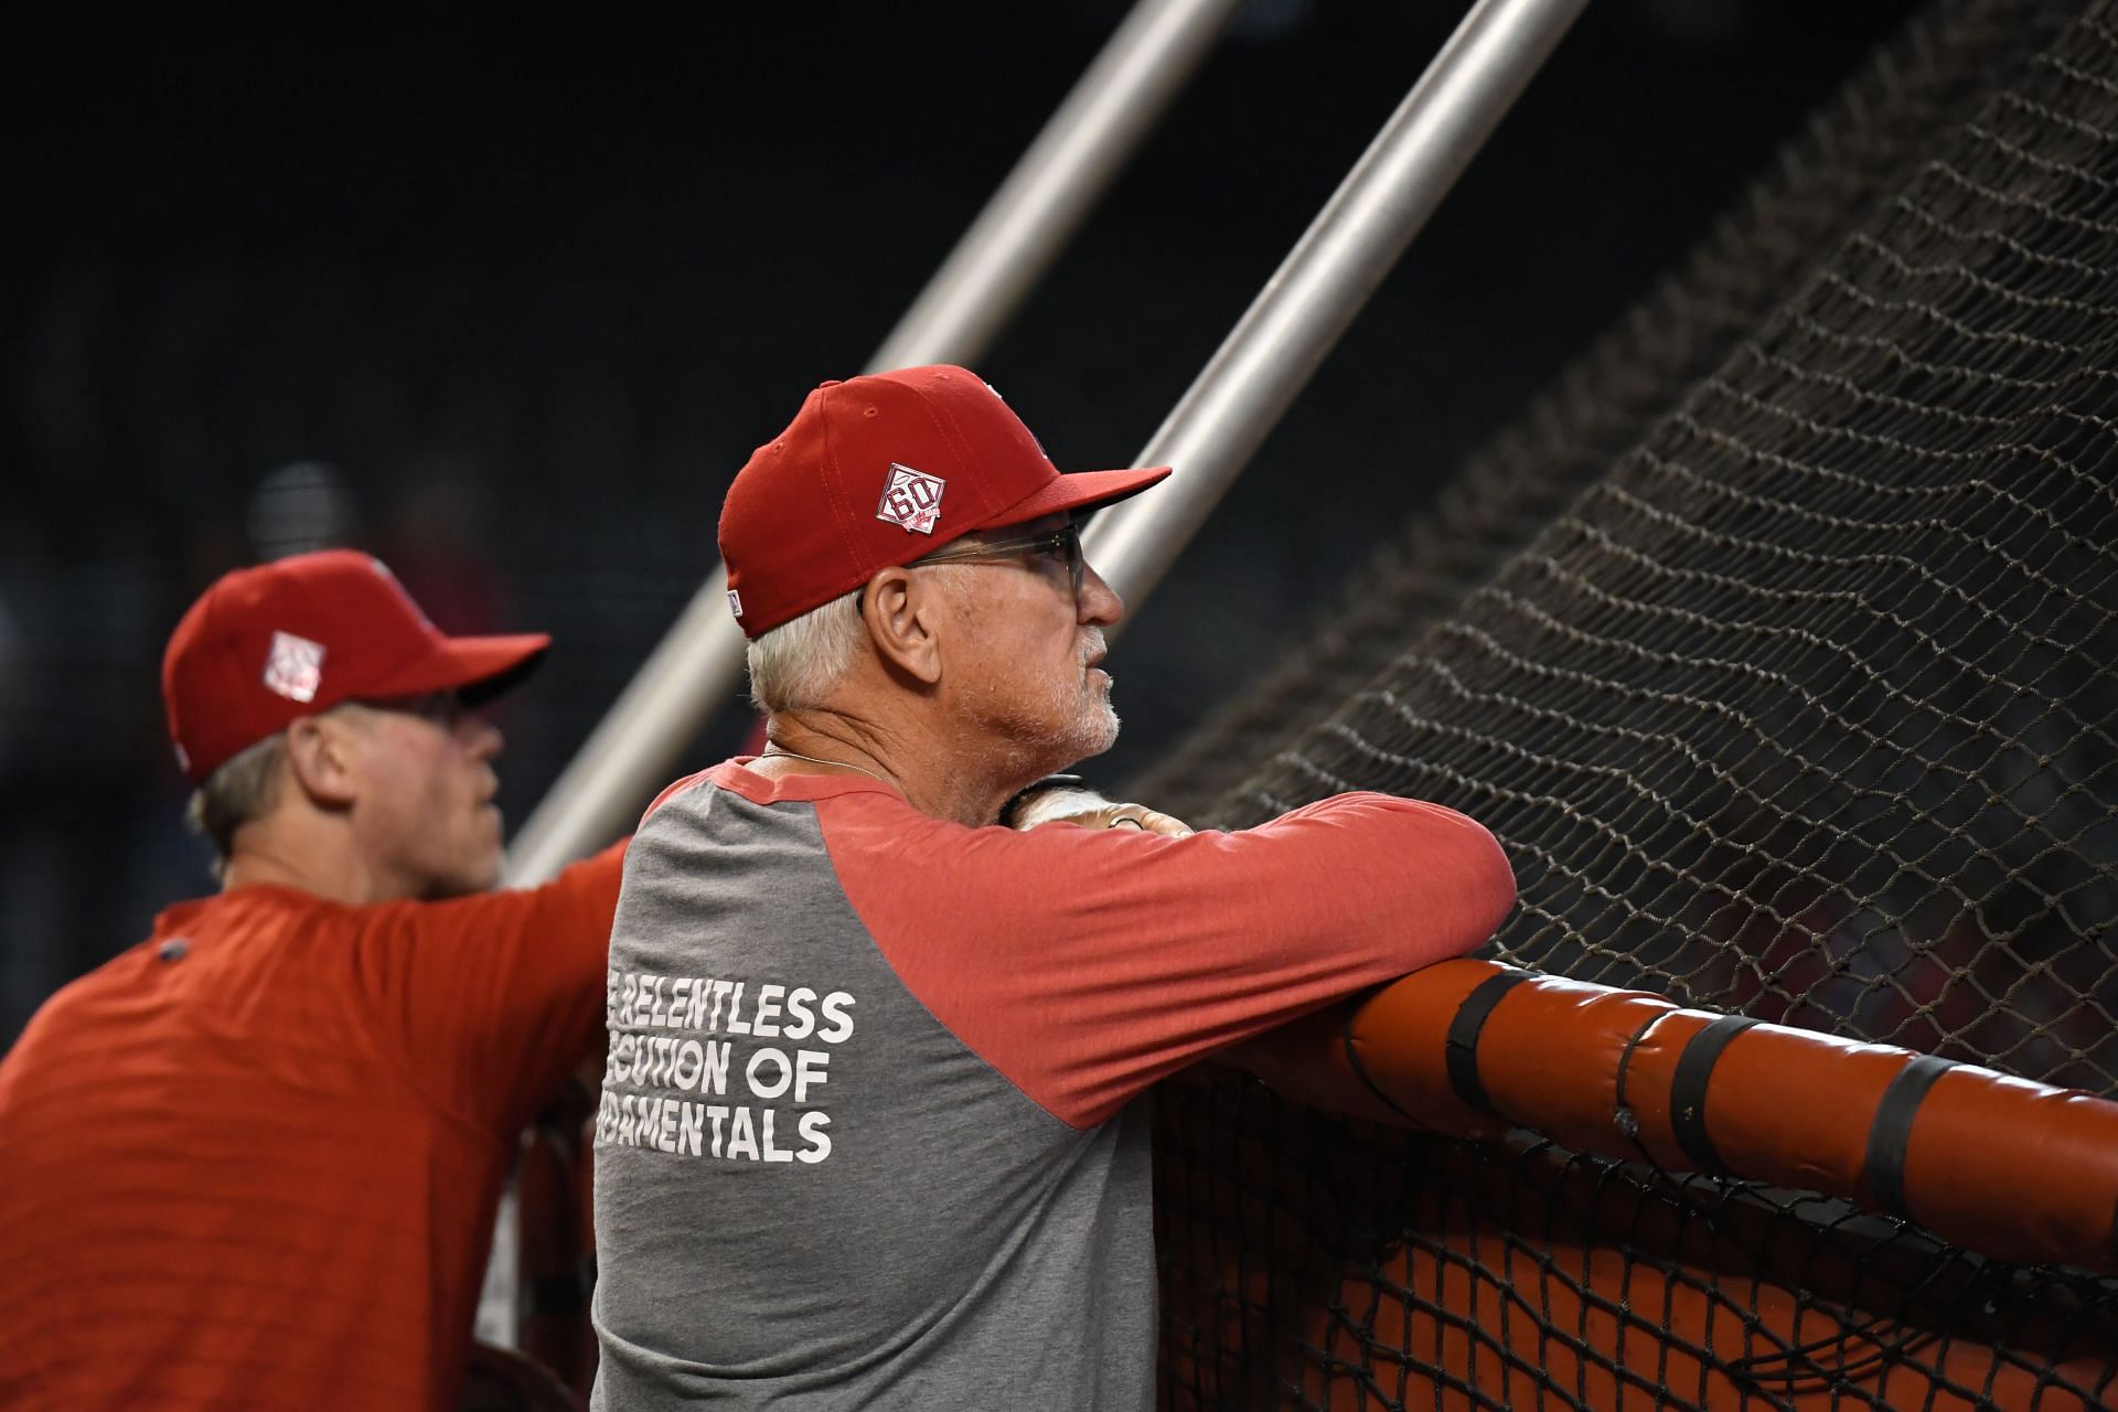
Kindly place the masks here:
[(1449, 36), (1133, 461), (1175, 474), (1091, 523), (1084, 548), (1129, 605), (1161, 582), (1586, 2), (1478, 0)]

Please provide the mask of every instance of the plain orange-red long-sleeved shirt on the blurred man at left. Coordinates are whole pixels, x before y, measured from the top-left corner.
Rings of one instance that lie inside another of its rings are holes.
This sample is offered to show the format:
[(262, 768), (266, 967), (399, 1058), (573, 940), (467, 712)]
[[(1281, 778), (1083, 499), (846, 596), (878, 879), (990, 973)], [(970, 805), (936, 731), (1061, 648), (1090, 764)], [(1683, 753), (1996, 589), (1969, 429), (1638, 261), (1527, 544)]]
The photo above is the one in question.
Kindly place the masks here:
[(186, 902), (0, 1061), (0, 1408), (453, 1408), (521, 1126), (602, 1044), (621, 849)]

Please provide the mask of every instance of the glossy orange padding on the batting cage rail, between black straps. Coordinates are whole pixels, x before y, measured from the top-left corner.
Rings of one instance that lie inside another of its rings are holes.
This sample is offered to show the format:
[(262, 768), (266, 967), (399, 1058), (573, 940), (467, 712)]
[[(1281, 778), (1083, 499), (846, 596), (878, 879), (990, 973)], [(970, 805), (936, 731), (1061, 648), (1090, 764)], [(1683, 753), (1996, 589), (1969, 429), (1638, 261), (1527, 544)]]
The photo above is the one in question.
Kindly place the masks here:
[[(1243, 1061), (1264, 1058), (1256, 1067), (1275, 1088), (1320, 1107), (1461, 1137), (1514, 1124), (1582, 1152), (1697, 1169), (1677, 1141), (1673, 1080), (1686, 1042), (1722, 1016), (1661, 995), (1531, 976), (1478, 1031), (1478, 1082), (1495, 1109), (1483, 1114), (1451, 1088), (1447, 1037), (1466, 997), (1500, 970), (1432, 965), (1360, 1001), (1351, 1016), (1336, 1008), (1273, 1035), (1269, 1054), (1256, 1048)], [(1868, 1143), (1885, 1088), (1917, 1058), (1756, 1025), (1711, 1069), (1705, 1133), (1726, 1175), (1887, 1209)], [(1620, 1118), (1620, 1069), (1629, 1120)], [(1913, 1109), (1902, 1190), (1902, 1215), (1968, 1249), (2118, 1270), (2118, 1103), (1951, 1065)]]

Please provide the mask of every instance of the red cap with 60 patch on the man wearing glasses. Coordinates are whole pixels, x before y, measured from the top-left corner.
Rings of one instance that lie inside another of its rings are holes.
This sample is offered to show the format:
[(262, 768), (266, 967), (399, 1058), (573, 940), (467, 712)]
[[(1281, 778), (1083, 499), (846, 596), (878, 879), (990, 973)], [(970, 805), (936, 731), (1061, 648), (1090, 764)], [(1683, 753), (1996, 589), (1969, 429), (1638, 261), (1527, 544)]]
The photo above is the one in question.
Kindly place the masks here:
[(729, 608), (756, 637), (949, 540), (1106, 506), (1167, 474), (1061, 476), (968, 368), (830, 381), (735, 472), (720, 508)]

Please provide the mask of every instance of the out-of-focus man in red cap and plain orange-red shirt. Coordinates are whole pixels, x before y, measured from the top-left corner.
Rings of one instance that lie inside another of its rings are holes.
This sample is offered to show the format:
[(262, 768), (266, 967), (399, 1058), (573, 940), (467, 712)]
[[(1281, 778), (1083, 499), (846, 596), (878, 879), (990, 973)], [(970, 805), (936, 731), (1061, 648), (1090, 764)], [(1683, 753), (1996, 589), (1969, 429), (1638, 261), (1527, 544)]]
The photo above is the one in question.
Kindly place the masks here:
[(618, 849), (500, 872), (477, 705), (356, 553), (216, 582), (163, 660), (222, 891), (0, 1063), (0, 1408), (453, 1408), (517, 1133), (599, 1048)]

